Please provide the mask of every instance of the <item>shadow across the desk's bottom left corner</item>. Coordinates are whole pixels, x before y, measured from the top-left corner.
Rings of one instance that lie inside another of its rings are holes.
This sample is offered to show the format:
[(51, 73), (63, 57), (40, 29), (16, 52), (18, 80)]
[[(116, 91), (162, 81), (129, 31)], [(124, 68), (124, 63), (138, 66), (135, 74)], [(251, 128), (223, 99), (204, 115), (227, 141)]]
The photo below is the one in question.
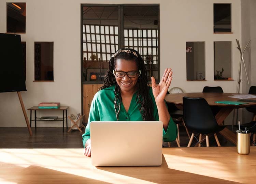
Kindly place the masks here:
[(100, 180), (94, 180), (81, 177), (66, 172), (56, 171), (40, 166), (31, 165), (23, 168), (13, 164), (0, 162), (0, 179), (15, 183), (103, 183)]

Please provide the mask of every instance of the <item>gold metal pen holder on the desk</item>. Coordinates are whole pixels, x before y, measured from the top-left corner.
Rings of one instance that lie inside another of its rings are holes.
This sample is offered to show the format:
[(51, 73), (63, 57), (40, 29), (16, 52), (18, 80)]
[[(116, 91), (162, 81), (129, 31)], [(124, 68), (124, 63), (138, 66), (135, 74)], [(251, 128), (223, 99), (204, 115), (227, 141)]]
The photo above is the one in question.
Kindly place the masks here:
[(241, 155), (250, 153), (250, 133), (240, 133), (237, 131), (237, 152)]

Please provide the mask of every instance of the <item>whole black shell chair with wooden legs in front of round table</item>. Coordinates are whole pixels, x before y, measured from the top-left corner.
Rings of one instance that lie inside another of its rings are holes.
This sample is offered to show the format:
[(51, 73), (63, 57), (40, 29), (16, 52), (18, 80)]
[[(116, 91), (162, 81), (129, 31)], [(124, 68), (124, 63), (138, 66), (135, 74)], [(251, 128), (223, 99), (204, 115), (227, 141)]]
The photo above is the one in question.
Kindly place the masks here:
[(205, 134), (207, 147), (209, 147), (208, 134), (214, 134), (217, 145), (221, 146), (216, 133), (222, 131), (225, 126), (218, 125), (209, 104), (204, 98), (183, 97), (183, 113), (186, 127), (193, 132), (187, 147), (190, 147), (195, 134), (199, 134), (199, 147), (202, 134)]

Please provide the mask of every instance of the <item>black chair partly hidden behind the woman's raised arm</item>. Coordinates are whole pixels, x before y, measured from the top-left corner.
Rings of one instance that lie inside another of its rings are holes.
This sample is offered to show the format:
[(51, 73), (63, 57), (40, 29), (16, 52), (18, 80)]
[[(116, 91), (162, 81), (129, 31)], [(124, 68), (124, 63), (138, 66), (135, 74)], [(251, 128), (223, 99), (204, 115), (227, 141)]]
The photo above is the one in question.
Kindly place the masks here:
[[(167, 94), (170, 94), (169, 91), (167, 91)], [(190, 135), (189, 135), (189, 132), (188, 132), (188, 129), (183, 121), (183, 110), (179, 110), (175, 104), (173, 103), (168, 103), (167, 102), (167, 107), (168, 107), (168, 111), (169, 111), (169, 114), (172, 118), (172, 120), (174, 121), (174, 123), (176, 123), (176, 126), (177, 126), (177, 130), (178, 130), (178, 135), (177, 135), (177, 138), (176, 138), (176, 143), (178, 145), (178, 147), (181, 147), (180, 146), (180, 132), (179, 132), (179, 124), (183, 124), (184, 127), (186, 128), (186, 132), (187, 132), (187, 135), (190, 139)], [(168, 142), (168, 145), (170, 147), (170, 142)]]

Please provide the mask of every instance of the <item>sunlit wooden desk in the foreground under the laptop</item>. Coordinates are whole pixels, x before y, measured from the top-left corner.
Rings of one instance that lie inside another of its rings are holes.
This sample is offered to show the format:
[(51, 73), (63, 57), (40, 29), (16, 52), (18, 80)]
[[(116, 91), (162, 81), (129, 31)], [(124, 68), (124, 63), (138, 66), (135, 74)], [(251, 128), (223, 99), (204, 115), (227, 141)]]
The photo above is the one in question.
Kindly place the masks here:
[(83, 149), (0, 149), (0, 183), (255, 183), (256, 147), (163, 148), (161, 166), (94, 167)]

